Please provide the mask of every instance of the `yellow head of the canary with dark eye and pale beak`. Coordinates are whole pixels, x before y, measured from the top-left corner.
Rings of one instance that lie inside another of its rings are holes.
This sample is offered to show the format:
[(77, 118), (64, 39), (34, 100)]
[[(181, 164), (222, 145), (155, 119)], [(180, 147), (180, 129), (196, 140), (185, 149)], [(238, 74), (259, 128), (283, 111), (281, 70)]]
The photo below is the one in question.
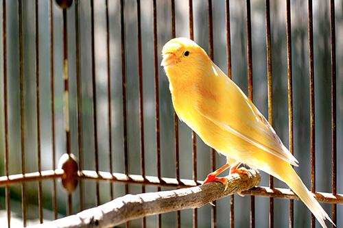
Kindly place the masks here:
[(171, 70), (187, 71), (191, 68), (199, 68), (208, 62), (204, 49), (189, 38), (174, 38), (169, 40), (162, 49), (163, 60), (161, 66)]

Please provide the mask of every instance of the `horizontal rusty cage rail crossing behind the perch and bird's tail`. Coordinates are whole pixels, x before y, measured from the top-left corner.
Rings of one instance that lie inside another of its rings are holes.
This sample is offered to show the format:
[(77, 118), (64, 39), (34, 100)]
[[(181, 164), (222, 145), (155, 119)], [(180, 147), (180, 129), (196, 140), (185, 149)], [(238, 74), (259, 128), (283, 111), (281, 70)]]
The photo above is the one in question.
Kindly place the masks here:
[[(57, 179), (64, 177), (64, 170), (43, 170), (41, 174), (39, 172), (35, 173), (25, 173), (9, 175), (0, 177), (0, 187), (1, 186), (11, 186), (29, 181), (43, 181), (49, 179)], [(95, 172), (93, 170), (82, 170), (78, 172), (78, 179), (97, 179), (99, 181), (115, 181), (122, 183), (136, 183), (145, 184), (151, 186), (165, 186), (170, 188), (189, 188), (193, 186), (198, 186), (203, 183), (203, 181), (193, 181), (192, 179), (180, 179), (178, 181), (176, 178), (167, 177), (154, 177), (142, 175), (126, 175), (124, 173), (108, 173), (108, 172)], [(268, 187), (255, 187), (250, 190), (241, 192), (246, 195), (255, 195), (261, 197), (273, 197), (280, 199), (298, 199), (296, 194), (287, 188), (268, 188)], [(332, 194), (329, 192), (314, 192), (314, 197), (319, 202), (322, 203), (337, 203), (343, 205), (343, 194)]]

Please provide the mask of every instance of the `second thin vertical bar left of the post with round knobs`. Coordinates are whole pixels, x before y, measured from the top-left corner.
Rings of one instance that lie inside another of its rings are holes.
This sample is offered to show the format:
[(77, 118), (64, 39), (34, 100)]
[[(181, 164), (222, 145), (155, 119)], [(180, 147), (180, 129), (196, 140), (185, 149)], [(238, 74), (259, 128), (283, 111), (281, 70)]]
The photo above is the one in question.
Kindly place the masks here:
[[(35, 24), (36, 24), (36, 121), (37, 121), (37, 162), (38, 172), (42, 171), (41, 157), (40, 157), (40, 87), (39, 87), (39, 27), (38, 27), (38, 0), (35, 3)], [(38, 181), (38, 208), (39, 208), (39, 222), (43, 223), (43, 206), (42, 206), (42, 181)]]

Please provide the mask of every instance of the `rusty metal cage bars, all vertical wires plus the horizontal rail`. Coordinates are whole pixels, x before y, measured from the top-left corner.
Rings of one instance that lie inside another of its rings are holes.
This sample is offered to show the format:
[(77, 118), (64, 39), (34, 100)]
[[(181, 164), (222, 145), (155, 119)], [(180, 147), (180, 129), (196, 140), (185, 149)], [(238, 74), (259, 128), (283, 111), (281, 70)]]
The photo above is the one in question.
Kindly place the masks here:
[[(64, 2), (64, 1), (62, 1)], [(67, 2), (67, 1), (66, 1)], [(92, 52), (92, 81), (93, 81), (93, 94), (96, 94), (96, 81), (95, 81), (95, 44), (94, 44), (94, 3), (93, 0), (91, 2), (91, 52)], [(50, 0), (50, 5), (54, 2)], [(79, 12), (79, 1), (75, 0), (75, 15), (80, 14)], [(287, 77), (288, 77), (288, 117), (289, 117), (289, 151), (293, 153), (293, 94), (292, 94), (292, 38), (291, 38), (291, 1), (286, 0), (286, 22), (287, 22)], [(106, 180), (106, 181), (120, 181), (125, 183), (126, 186), (126, 194), (129, 193), (128, 185), (130, 183), (138, 183), (141, 185), (142, 192), (145, 192), (145, 185), (154, 185), (158, 186), (158, 190), (161, 190), (161, 186), (169, 186), (173, 188), (185, 188), (189, 186), (196, 186), (201, 183), (198, 181), (198, 174), (197, 174), (197, 144), (196, 144), (196, 134), (195, 132), (192, 133), (192, 140), (193, 140), (193, 178), (192, 179), (181, 179), (180, 178), (180, 165), (179, 165), (179, 142), (178, 142), (178, 117), (174, 114), (174, 131), (175, 131), (175, 148), (176, 148), (176, 178), (165, 178), (161, 175), (161, 142), (160, 142), (160, 122), (159, 122), (159, 97), (158, 97), (158, 48), (157, 48), (157, 21), (156, 21), (156, 0), (152, 0), (153, 4), (153, 33), (154, 33), (154, 90), (155, 90), (155, 117), (156, 117), (156, 142), (157, 142), (157, 176), (147, 176), (145, 175), (145, 151), (144, 151), (144, 123), (143, 123), (143, 82), (142, 82), (142, 52), (141, 52), (141, 1), (137, 0), (137, 32), (138, 32), (138, 53), (139, 53), (139, 121), (140, 121), (140, 146), (141, 146), (141, 175), (130, 175), (128, 170), (128, 127), (127, 127), (127, 110), (126, 110), (126, 42), (125, 42), (125, 21), (124, 21), (124, 1), (120, 1), (120, 15), (121, 15), (121, 63), (122, 63), (122, 96), (123, 96), (123, 147), (124, 147), (124, 165), (125, 170), (124, 173), (114, 173), (112, 164), (110, 164), (110, 172), (102, 172), (99, 170), (99, 155), (97, 149), (97, 108), (96, 108), (96, 96), (93, 96), (93, 113), (94, 113), (94, 139), (95, 139), (95, 170), (84, 170), (82, 167), (82, 162), (79, 163), (79, 172), (78, 178), (81, 180), (84, 179), (92, 179), (96, 181), (96, 196), (97, 196), (97, 205), (99, 205), (99, 181)], [(62, 9), (63, 11), (63, 53), (64, 53), (64, 96), (65, 99), (68, 99), (69, 94), (69, 78), (68, 78), (68, 51), (67, 51), (67, 5)], [(213, 60), (213, 15), (212, 15), (212, 1), (208, 0), (208, 16), (209, 16), (209, 56)], [(251, 8), (250, 8), (250, 0), (246, 0), (246, 25), (247, 25), (247, 55), (248, 55), (248, 95), (249, 98), (252, 100), (252, 39), (251, 39), (251, 16), (250, 16)], [(55, 122), (54, 122), (54, 36), (53, 29), (50, 30), (51, 33), (51, 40), (50, 40), (50, 47), (51, 47), (51, 116), (52, 116), (52, 159), (53, 159), (53, 169), (52, 170), (42, 170), (41, 168), (41, 145), (40, 145), (40, 108), (39, 108), (39, 97), (40, 97), (40, 84), (39, 84), (39, 60), (38, 55), (36, 55), (35, 60), (35, 72), (36, 72), (36, 115), (37, 115), (37, 131), (38, 131), (38, 170), (36, 173), (27, 173), (26, 166), (25, 166), (25, 106), (23, 103), (24, 100), (24, 88), (23, 88), (23, 0), (19, 0), (19, 75), (20, 75), (20, 112), (21, 112), (21, 174), (18, 175), (9, 175), (9, 154), (10, 151), (8, 149), (8, 74), (7, 74), (7, 25), (8, 22), (6, 21), (6, 1), (3, 0), (3, 14), (2, 14), (2, 23), (3, 23), (3, 85), (4, 85), (4, 93), (3, 93), (3, 103), (4, 103), (4, 123), (5, 125), (1, 127), (1, 130), (5, 132), (5, 176), (0, 177), (0, 186), (5, 186), (5, 201), (6, 201), (6, 208), (7, 208), (7, 219), (8, 224), (10, 224), (11, 220), (11, 211), (10, 211), (10, 186), (11, 185), (18, 185), (21, 184), (21, 192), (22, 192), (22, 216), (23, 216), (23, 225), (27, 225), (27, 208), (25, 205), (26, 195), (25, 195), (25, 183), (27, 181), (36, 181), (38, 182), (38, 207), (39, 207), (39, 219), (40, 223), (43, 223), (43, 195), (42, 195), (42, 181), (45, 179), (53, 180), (53, 206), (54, 206), (54, 216), (57, 218), (57, 199), (56, 199), (56, 179), (60, 179), (64, 177), (65, 173), (64, 170), (57, 168), (56, 166), (56, 142), (54, 140), (55, 136)], [(308, 0), (308, 45), (309, 45), (309, 79), (310, 79), (310, 123), (311, 123), (311, 192), (316, 194), (316, 198), (318, 201), (331, 203), (332, 205), (332, 214), (333, 214), (333, 222), (336, 223), (337, 220), (337, 204), (343, 203), (343, 194), (338, 194), (337, 192), (337, 135), (336, 135), (336, 54), (335, 54), (335, 3), (334, 0), (330, 0), (330, 23), (331, 23), (331, 138), (332, 138), (332, 192), (316, 192), (316, 173), (315, 173), (315, 160), (316, 160), (316, 151), (315, 151), (315, 123), (314, 123), (314, 36), (313, 36), (313, 14), (312, 14), (312, 1)], [(51, 28), (54, 27), (54, 20), (53, 17), (53, 10), (52, 7), (50, 8), (49, 12), (50, 17), (50, 26)], [(38, 34), (38, 0), (36, 0), (36, 14), (35, 14), (35, 24), (36, 24), (36, 34)], [(175, 16), (175, 2), (171, 0), (171, 27), (172, 27), (172, 37), (176, 36), (176, 16)], [(271, 29), (270, 29), (270, 1), (265, 0), (265, 23), (266, 23), (266, 31), (265, 31), (265, 38), (266, 38), (266, 47), (267, 47), (267, 66), (268, 66), (268, 121), (272, 125), (273, 123), (273, 115), (272, 115), (272, 56), (271, 56)], [(106, 0), (106, 26), (107, 26), (107, 55), (108, 55), (108, 116), (109, 120), (111, 120), (111, 109), (110, 109), (110, 35), (109, 35), (109, 18), (108, 18), (108, 0)], [(78, 16), (75, 16), (75, 36), (76, 36), (76, 71), (77, 71), (77, 86), (78, 86), (78, 144), (79, 144), (79, 154), (78, 158), (82, 161), (82, 148), (80, 144), (82, 143), (82, 116), (81, 112), (81, 95), (80, 95), (80, 21)], [(193, 1), (189, 0), (189, 37), (193, 39)], [(231, 55), (230, 55), (230, 3), (229, 0), (226, 0), (226, 39), (227, 39), (227, 66), (228, 66), (228, 77), (231, 77)], [(38, 36), (36, 36), (35, 40), (35, 52), (39, 52), (39, 41)], [(68, 105), (66, 107), (65, 119), (66, 119), (66, 129), (65, 129), (65, 137), (67, 138), (67, 148), (65, 149), (66, 153), (71, 153), (71, 145), (70, 145), (70, 132), (69, 132), (69, 111)], [(108, 123), (108, 127), (111, 129), (112, 123)], [(111, 131), (109, 132), (109, 137), (111, 138)], [(113, 145), (111, 140), (109, 140), (109, 148), (110, 154), (108, 159), (111, 161), (112, 158), (112, 148)], [(212, 170), (215, 170), (215, 151), (211, 150), (211, 164)], [(84, 201), (84, 191), (82, 188), (82, 181), (80, 181), (80, 209), (84, 209), (84, 205), (82, 202)], [(257, 187), (252, 188), (244, 194), (248, 194), (251, 197), (251, 207), (250, 207), (250, 227), (255, 227), (255, 196), (264, 196), (270, 197), (270, 210), (269, 210), (269, 218), (270, 218), (270, 227), (274, 226), (274, 198), (287, 198), (289, 199), (289, 227), (294, 226), (294, 205), (293, 199), (296, 198), (294, 193), (286, 188), (274, 188), (273, 177), (270, 176), (269, 186), (268, 187)], [(110, 197), (113, 199), (113, 186), (110, 185)], [(234, 213), (233, 210), (234, 206), (234, 197), (230, 199), (230, 225), (234, 227), (235, 220), (234, 220)], [(212, 216), (211, 216), (211, 224), (212, 227), (216, 225), (216, 208), (211, 207)], [(68, 194), (68, 214), (72, 214), (72, 200), (71, 194)], [(197, 209), (193, 210), (193, 227), (197, 227)], [(314, 227), (314, 216), (311, 217), (311, 226)], [(177, 212), (177, 225), (180, 227), (180, 211)], [(145, 218), (142, 220), (142, 226), (146, 227)], [(161, 215), (158, 216), (158, 227), (161, 227)]]

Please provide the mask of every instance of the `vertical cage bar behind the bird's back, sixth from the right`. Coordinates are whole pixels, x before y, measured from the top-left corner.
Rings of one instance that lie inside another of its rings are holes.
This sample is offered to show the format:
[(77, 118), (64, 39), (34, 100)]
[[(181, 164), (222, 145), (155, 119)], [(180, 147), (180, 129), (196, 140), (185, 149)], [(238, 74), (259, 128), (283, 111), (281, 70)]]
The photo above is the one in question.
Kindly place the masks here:
[[(231, 68), (231, 37), (230, 37), (230, 1), (226, 0), (226, 54), (228, 64), (228, 77), (232, 78)], [(235, 227), (235, 195), (230, 197), (230, 228)]]

